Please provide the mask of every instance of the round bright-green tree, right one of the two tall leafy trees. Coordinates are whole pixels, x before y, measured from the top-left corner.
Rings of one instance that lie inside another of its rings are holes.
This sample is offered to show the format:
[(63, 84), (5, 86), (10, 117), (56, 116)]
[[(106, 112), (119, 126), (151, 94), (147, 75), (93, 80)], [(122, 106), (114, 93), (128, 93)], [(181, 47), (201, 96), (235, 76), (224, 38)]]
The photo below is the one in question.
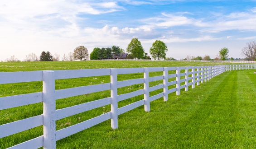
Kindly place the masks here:
[(150, 48), (150, 55), (154, 59), (165, 59), (166, 53), (168, 49), (164, 42), (156, 40), (152, 47)]

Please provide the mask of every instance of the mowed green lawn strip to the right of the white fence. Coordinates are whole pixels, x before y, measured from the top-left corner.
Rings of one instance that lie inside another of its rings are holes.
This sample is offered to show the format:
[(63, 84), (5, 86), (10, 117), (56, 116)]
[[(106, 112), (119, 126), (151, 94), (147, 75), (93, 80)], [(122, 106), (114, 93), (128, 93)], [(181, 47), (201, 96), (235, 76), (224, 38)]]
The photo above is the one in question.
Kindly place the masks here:
[(255, 149), (255, 70), (228, 71), (210, 81), (136, 108), (57, 142), (57, 148)]

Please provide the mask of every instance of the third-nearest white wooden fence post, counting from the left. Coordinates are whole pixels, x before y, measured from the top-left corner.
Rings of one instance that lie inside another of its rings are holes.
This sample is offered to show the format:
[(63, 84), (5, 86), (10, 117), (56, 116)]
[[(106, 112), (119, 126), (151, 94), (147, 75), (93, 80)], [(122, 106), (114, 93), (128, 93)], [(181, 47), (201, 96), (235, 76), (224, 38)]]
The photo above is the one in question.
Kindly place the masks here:
[(150, 112), (149, 68), (144, 68), (144, 110)]

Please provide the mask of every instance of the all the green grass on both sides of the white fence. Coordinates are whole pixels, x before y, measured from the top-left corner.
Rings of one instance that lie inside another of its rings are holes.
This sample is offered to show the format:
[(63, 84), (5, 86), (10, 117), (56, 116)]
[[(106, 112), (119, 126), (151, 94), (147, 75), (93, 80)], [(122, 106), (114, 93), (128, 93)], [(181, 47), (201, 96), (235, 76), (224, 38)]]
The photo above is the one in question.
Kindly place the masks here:
[[(228, 63), (230, 64), (230, 63)], [(158, 61), (82, 61), (82, 62), (0, 62), (0, 71), (63, 70), (85, 68), (131, 68), (163, 66), (223, 65), (200, 62)], [(162, 148), (256, 148), (256, 70), (235, 70), (220, 74), (194, 89), (189, 87), (179, 96), (169, 94), (169, 101), (159, 98), (144, 107), (121, 114), (119, 128), (111, 129), (110, 120), (57, 141), (59, 149), (162, 149)], [(159, 75), (150, 74), (151, 76)], [(127, 75), (141, 78), (141, 74)], [(109, 77), (97, 79), (65, 79), (56, 81), (56, 89), (109, 82)], [(122, 80), (120, 75), (119, 80)], [(83, 84), (81, 84), (83, 82)], [(153, 82), (150, 86), (158, 84)], [(161, 83), (161, 82), (160, 82)], [(118, 94), (141, 89), (141, 84), (120, 88)], [(28, 89), (29, 88), (29, 89)], [(142, 87), (143, 88), (143, 87)], [(2, 84), (0, 95), (33, 93), (42, 90), (42, 82)], [(156, 94), (161, 91), (155, 91)], [(109, 97), (110, 91), (81, 95), (56, 101), (56, 109)], [(151, 96), (151, 93), (150, 93)], [(121, 101), (120, 107), (143, 99), (143, 96)], [(42, 114), (42, 103), (0, 111), (0, 125)], [(57, 130), (110, 111), (110, 105), (56, 121)], [(7, 148), (43, 135), (43, 126), (0, 139), (0, 148)]]

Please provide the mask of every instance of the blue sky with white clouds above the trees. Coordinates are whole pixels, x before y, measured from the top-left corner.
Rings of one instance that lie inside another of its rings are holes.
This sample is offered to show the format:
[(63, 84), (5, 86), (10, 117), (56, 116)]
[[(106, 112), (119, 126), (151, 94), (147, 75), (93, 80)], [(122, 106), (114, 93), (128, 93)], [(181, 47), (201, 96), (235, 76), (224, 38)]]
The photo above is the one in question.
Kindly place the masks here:
[(167, 57), (229, 56), (256, 40), (256, 0), (1, 0), (0, 61), (57, 53), (77, 46), (119, 46), (138, 38), (149, 53), (155, 40)]

